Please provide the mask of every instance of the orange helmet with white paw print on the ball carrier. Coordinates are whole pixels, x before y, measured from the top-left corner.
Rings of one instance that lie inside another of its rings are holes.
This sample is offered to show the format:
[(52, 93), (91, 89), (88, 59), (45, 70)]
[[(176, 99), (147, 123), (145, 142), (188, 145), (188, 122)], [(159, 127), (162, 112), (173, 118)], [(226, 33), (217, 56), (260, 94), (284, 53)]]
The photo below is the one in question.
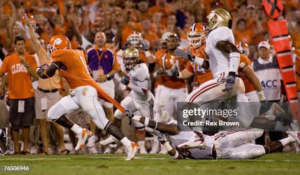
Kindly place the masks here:
[(47, 44), (47, 54), (49, 59), (51, 58), (51, 53), (58, 49), (70, 49), (70, 41), (65, 35), (54, 35), (50, 38)]

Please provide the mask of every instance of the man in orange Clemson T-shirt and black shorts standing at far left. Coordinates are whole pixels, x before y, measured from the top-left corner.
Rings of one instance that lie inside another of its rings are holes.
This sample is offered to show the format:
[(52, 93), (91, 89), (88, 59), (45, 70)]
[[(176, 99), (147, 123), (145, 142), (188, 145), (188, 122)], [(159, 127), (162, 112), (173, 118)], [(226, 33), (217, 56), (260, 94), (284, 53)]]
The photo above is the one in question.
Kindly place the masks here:
[(34, 90), (31, 77), (37, 79), (37, 68), (33, 56), (25, 52), (25, 39), (16, 37), (15, 53), (7, 56), (0, 68), (0, 77), (7, 73), (10, 98), (9, 122), (12, 126), (12, 138), (15, 153), (19, 153), (19, 129), (23, 134), (23, 154), (28, 154), (30, 125), (35, 117)]

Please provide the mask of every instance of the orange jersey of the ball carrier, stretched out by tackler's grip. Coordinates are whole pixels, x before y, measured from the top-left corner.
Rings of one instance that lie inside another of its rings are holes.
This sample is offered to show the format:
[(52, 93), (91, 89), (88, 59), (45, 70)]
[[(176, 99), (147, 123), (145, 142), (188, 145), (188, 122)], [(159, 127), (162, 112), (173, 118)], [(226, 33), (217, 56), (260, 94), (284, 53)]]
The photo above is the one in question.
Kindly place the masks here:
[(62, 63), (66, 68), (59, 69), (59, 74), (63, 76), (71, 89), (80, 86), (92, 86), (98, 92), (98, 98), (106, 100), (119, 110), (124, 112), (124, 108), (105, 91), (103, 91), (98, 83), (89, 73), (88, 65), (84, 59), (84, 53), (81, 50), (54, 50), (51, 53), (52, 63)]

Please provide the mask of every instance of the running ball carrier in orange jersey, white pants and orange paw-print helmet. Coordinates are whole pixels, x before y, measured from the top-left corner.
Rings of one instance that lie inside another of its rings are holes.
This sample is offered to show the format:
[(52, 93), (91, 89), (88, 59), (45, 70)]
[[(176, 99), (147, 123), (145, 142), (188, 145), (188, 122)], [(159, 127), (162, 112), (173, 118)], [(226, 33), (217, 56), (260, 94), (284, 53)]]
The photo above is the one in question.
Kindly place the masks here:
[(50, 65), (44, 64), (37, 69), (41, 78), (49, 78), (58, 70), (70, 85), (71, 95), (62, 98), (53, 105), (48, 118), (59, 125), (67, 127), (74, 131), (78, 137), (78, 143), (75, 150), (83, 147), (91, 131), (81, 128), (71, 122), (65, 114), (82, 109), (89, 114), (94, 123), (100, 128), (106, 130), (115, 138), (121, 141), (127, 148), (127, 157), (125, 160), (134, 159), (135, 153), (139, 150), (139, 145), (128, 140), (123, 133), (109, 122), (104, 110), (97, 100), (97, 97), (114, 104), (120, 111), (124, 108), (107, 93), (105, 93), (90, 75), (90, 70), (84, 59), (84, 53), (81, 50), (71, 50), (70, 42), (64, 35), (54, 35), (50, 38), (47, 45), (47, 54), (52, 59)]

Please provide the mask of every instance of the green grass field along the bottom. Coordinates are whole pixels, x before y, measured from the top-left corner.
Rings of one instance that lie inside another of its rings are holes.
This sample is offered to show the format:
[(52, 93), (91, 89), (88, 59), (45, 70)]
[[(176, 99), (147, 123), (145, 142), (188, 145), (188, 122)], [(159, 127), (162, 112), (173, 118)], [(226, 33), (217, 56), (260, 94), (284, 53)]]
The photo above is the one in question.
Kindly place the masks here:
[(173, 160), (159, 154), (138, 154), (134, 161), (124, 158), (125, 154), (5, 155), (0, 165), (30, 165), (33, 175), (300, 175), (299, 153), (250, 160)]

